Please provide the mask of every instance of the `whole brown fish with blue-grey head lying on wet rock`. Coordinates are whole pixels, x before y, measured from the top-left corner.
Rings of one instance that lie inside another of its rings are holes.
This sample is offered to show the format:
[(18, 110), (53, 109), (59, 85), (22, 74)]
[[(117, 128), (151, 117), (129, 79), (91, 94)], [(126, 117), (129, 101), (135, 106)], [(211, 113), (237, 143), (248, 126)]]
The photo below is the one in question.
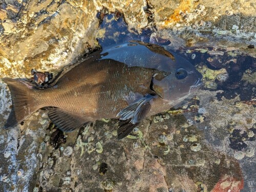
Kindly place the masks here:
[(202, 75), (183, 57), (141, 41), (115, 44), (62, 70), (49, 87), (3, 78), (12, 109), (4, 128), (14, 127), (40, 108), (55, 126), (71, 132), (102, 118), (119, 119), (122, 139), (146, 117), (193, 96)]

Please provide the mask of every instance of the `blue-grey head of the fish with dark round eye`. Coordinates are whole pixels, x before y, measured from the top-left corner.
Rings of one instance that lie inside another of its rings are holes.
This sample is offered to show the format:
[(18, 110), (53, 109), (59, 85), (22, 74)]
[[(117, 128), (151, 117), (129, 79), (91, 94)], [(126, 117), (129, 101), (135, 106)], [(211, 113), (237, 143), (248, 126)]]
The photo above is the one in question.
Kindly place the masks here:
[(202, 75), (184, 58), (176, 56), (168, 68), (156, 71), (151, 83), (151, 89), (163, 100), (177, 104), (201, 87)]

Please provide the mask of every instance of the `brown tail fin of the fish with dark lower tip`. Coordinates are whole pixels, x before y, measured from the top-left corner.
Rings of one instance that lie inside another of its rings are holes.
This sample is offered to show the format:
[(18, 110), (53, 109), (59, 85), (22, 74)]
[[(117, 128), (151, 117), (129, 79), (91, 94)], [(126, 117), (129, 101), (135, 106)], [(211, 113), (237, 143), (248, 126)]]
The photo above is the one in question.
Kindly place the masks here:
[(20, 79), (2, 79), (9, 87), (12, 97), (12, 110), (4, 128), (13, 127), (37, 110), (33, 98), (33, 86)]

